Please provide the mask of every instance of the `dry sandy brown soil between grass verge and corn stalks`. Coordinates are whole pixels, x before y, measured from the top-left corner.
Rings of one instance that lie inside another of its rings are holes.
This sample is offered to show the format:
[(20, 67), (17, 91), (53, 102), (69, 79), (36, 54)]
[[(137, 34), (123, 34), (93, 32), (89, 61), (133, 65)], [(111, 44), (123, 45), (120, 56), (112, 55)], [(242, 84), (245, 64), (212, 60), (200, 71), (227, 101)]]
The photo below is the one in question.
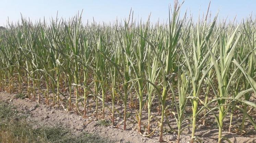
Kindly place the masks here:
[[(41, 104), (37, 104), (36, 101), (28, 100), (28, 99), (15, 99), (13, 94), (8, 94), (6, 92), (0, 92), (0, 100), (9, 102), (13, 106), (17, 108), (17, 110), (23, 111), (27, 113), (27, 120), (31, 123), (36, 122), (39, 125), (47, 125), (47, 126), (63, 126), (69, 128), (73, 133), (81, 133), (83, 131), (89, 133), (96, 133), (101, 137), (109, 138), (113, 142), (133, 142), (133, 143), (141, 143), (141, 142), (149, 142), (154, 143), (158, 142), (158, 131), (151, 136), (150, 138), (143, 137), (142, 134), (139, 134), (136, 130), (136, 122), (134, 121), (134, 110), (128, 110), (131, 112), (131, 116), (127, 119), (127, 130), (123, 130), (123, 126), (120, 125), (118, 128), (114, 126), (100, 126), (94, 118), (83, 118), (75, 114), (74, 112), (67, 112), (63, 110), (63, 107), (52, 108), (47, 106), (44, 102)], [(120, 105), (121, 107), (121, 105)], [(107, 111), (107, 110), (106, 110)], [(121, 112), (122, 114), (122, 112)], [(156, 111), (153, 110), (153, 114), (157, 118)], [(108, 115), (108, 111), (106, 113)], [(107, 119), (107, 117), (106, 117)], [(241, 122), (241, 115), (234, 115), (234, 128), (236, 124), (239, 125)], [(107, 119), (108, 120), (108, 119)], [(122, 118), (116, 117), (116, 122), (121, 123)], [(144, 112), (143, 122), (147, 123), (147, 116)], [(176, 123), (173, 119), (170, 119), (170, 125), (172, 128), (176, 128)], [(189, 124), (187, 122), (186, 124)], [(226, 122), (229, 124), (229, 121)], [(157, 126), (157, 121), (153, 120), (152, 122), (153, 128)], [(223, 136), (231, 140), (233, 143), (254, 143), (256, 142), (256, 131), (253, 126), (249, 123), (246, 123), (247, 133), (240, 136), (239, 133), (230, 133), (227, 128), (223, 131)], [(228, 125), (227, 125), (228, 127)], [(168, 129), (169, 127), (166, 126)], [(187, 143), (190, 141), (191, 137), (190, 127), (187, 127), (183, 134), (181, 135), (181, 142)], [(214, 123), (214, 118), (207, 118), (206, 126), (198, 125), (198, 129), (196, 131), (196, 136), (202, 139), (204, 142), (215, 143), (218, 139), (218, 128), (217, 124)], [(176, 133), (164, 133), (164, 139), (169, 140), (169, 142), (176, 142)]]

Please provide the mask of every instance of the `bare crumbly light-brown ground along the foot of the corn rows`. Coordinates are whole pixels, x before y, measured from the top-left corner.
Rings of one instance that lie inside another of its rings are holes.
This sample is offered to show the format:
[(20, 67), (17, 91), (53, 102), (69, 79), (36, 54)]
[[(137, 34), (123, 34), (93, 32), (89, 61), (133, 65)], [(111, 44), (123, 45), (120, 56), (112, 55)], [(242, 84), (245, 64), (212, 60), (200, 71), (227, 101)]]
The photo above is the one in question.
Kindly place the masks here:
[[(135, 116), (135, 110), (128, 110), (129, 117), (126, 122), (126, 130), (123, 130), (122, 118), (116, 115), (115, 122), (120, 123), (119, 126), (112, 126), (110, 113), (106, 110), (106, 117), (104, 119), (98, 117), (98, 120), (95, 120), (95, 117), (80, 116), (75, 114), (75, 112), (68, 112), (60, 106), (47, 106), (44, 101), (41, 101), (38, 104), (34, 100), (29, 100), (27, 98), (15, 98), (14, 94), (9, 94), (6, 92), (0, 92), (0, 101), (4, 102), (7, 105), (15, 107), (15, 110), (19, 112), (22, 116), (26, 116), (26, 123), (30, 124), (33, 128), (37, 129), (42, 126), (54, 127), (54, 128), (65, 128), (71, 132), (72, 136), (79, 136), (83, 133), (89, 133), (100, 137), (101, 141), (99, 142), (122, 142), (122, 143), (157, 143), (158, 142), (158, 130), (150, 137), (143, 136), (143, 130), (147, 130), (146, 127), (142, 127), (142, 133), (137, 132), (137, 122)], [(120, 105), (121, 108), (121, 105)], [(255, 109), (253, 109), (255, 110)], [(255, 111), (253, 111), (255, 112)], [(109, 116), (107, 116), (109, 114)], [(120, 112), (122, 115), (122, 112)], [(152, 113), (156, 119), (152, 119), (151, 127), (152, 130), (157, 128), (157, 118), (160, 118), (160, 115), (157, 114), (157, 111)], [(20, 116), (20, 115), (19, 115)], [(246, 122), (246, 131), (239, 131), (239, 125), (241, 124), (242, 115), (235, 114), (233, 115), (233, 126), (232, 131), (228, 131), (229, 119), (225, 121), (225, 127), (223, 131), (223, 136), (228, 138), (233, 143), (253, 143), (256, 142), (256, 131), (253, 126)], [(17, 119), (19, 120), (19, 119)], [(196, 136), (202, 142), (212, 142), (215, 143), (218, 141), (218, 128), (217, 123), (214, 120), (214, 117), (207, 117), (206, 125), (198, 125), (196, 130)], [(143, 123), (147, 123), (146, 112), (143, 116)], [(165, 121), (167, 122), (167, 121)], [(176, 142), (176, 132), (174, 131), (176, 127), (175, 120), (169, 119), (169, 126), (164, 127), (164, 140), (166, 142)], [(189, 121), (186, 121), (186, 125), (190, 124)], [(237, 124), (237, 125), (236, 125)], [(184, 126), (186, 126), (184, 125)], [(144, 125), (146, 126), (146, 125)], [(170, 129), (170, 126), (173, 130)], [(187, 143), (191, 140), (191, 127), (187, 126), (183, 133), (181, 134), (181, 143)], [(0, 135), (1, 138), (1, 135)], [(96, 141), (96, 140), (95, 140)], [(58, 142), (58, 141), (57, 141)], [(61, 141), (60, 141), (61, 142)], [(92, 142), (92, 141), (77, 141), (77, 142)]]

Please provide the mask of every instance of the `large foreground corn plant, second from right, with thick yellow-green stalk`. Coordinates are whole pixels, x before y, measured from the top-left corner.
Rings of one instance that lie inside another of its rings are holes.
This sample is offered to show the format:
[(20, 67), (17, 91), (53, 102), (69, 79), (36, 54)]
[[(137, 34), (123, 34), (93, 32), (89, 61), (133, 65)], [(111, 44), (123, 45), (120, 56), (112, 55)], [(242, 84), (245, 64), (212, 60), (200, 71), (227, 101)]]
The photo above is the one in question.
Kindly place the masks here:
[[(208, 29), (206, 29), (206, 25), (203, 27), (200, 27), (199, 20), (196, 25), (196, 32), (195, 35), (192, 35), (192, 60), (188, 57), (188, 50), (184, 47), (183, 42), (181, 41), (181, 47), (184, 53), (185, 61), (187, 64), (188, 71), (190, 73), (190, 82), (192, 84), (193, 88), (193, 97), (198, 97), (200, 93), (200, 88), (202, 86), (203, 80), (205, 76), (202, 76), (201, 71), (205, 68), (206, 61), (209, 58), (210, 53), (206, 51), (206, 42), (209, 41), (210, 35), (212, 33), (212, 30), (214, 29), (216, 18), (214, 18), (214, 21), (210, 24)], [(206, 21), (205, 21), (206, 22)], [(202, 28), (203, 31), (200, 33), (200, 28)], [(209, 72), (210, 68), (206, 69), (207, 74)], [(196, 129), (196, 113), (197, 113), (197, 106), (198, 101), (197, 98), (195, 100), (191, 100), (192, 102), (192, 110), (193, 110), (193, 116), (191, 118), (192, 122), (192, 142), (195, 139), (195, 129)]]

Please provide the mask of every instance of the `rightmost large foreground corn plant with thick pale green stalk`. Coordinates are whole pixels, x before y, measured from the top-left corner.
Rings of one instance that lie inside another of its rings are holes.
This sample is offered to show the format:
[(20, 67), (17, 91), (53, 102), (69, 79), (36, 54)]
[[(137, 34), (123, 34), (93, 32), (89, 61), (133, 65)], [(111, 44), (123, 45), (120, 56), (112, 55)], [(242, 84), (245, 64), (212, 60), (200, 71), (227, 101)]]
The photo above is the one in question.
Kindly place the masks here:
[[(227, 74), (227, 71), (230, 68), (230, 64), (231, 64), (232, 58), (233, 58), (234, 53), (235, 53), (236, 44), (237, 44), (237, 42), (239, 41), (239, 39), (242, 35), (242, 32), (240, 31), (240, 33), (235, 38), (235, 35), (236, 35), (236, 32), (237, 32), (238, 28), (239, 28), (239, 26), (237, 26), (236, 29), (234, 30), (234, 32), (232, 33), (232, 35), (227, 38), (227, 43), (224, 43), (225, 37), (223, 35), (222, 35), (223, 37), (220, 36), (220, 38), (223, 40), (219, 45), (219, 47), (220, 47), (220, 58), (219, 59), (220, 59), (220, 67), (221, 68), (219, 68), (218, 59), (211, 52), (211, 50), (209, 48), (209, 45), (207, 45), (207, 47), (210, 51), (211, 61), (214, 63), (214, 67), (215, 67), (215, 71), (216, 71), (216, 75), (217, 75), (217, 80), (218, 80), (218, 91), (219, 91), (219, 93), (216, 95), (216, 98), (219, 98), (217, 100), (218, 101), (219, 116), (216, 117), (216, 120), (217, 120), (217, 123), (218, 123), (218, 126), (219, 126), (219, 138), (218, 138), (219, 143), (221, 142), (221, 140), (225, 139), (224, 137), (222, 137), (223, 120), (224, 120), (225, 115), (227, 115), (227, 112), (229, 111), (229, 108), (225, 108), (225, 104), (226, 104), (226, 99), (229, 95), (229, 92), (228, 92), (229, 91), (229, 86), (231, 85), (232, 78), (234, 77), (235, 73), (237, 72), (237, 70), (234, 70), (234, 72), (231, 74), (231, 77), (228, 77), (229, 74)], [(232, 44), (232, 41), (234, 39), (235, 39), (235, 42)], [(215, 93), (217, 93), (216, 90), (215, 90)], [(245, 93), (246, 92), (243, 92), (241, 94), (245, 94)], [(213, 109), (211, 109), (211, 110), (213, 110)], [(248, 115), (248, 114), (246, 113), (246, 115)]]

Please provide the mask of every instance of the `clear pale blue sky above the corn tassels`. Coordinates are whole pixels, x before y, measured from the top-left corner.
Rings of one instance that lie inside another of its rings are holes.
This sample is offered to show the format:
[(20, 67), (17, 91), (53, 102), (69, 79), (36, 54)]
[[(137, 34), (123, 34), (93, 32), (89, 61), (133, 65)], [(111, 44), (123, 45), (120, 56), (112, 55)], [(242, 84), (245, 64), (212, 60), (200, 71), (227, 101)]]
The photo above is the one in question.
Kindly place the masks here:
[[(182, 2), (183, 0), (181, 0)], [(113, 21), (129, 16), (130, 9), (138, 19), (146, 20), (151, 12), (151, 21), (166, 21), (168, 18), (168, 5), (173, 0), (1, 0), (0, 25), (4, 25), (9, 17), (10, 21), (20, 19), (20, 13), (35, 21), (39, 18), (50, 19), (58, 15), (69, 18), (77, 14), (78, 10), (83, 12), (83, 21), (87, 19), (95, 21)], [(209, 0), (185, 0), (182, 5), (183, 15), (185, 10), (191, 12), (197, 19), (199, 12), (202, 14), (207, 10)], [(210, 12), (215, 15), (220, 10), (219, 18), (229, 16), (233, 19), (242, 20), (253, 13), (255, 16), (256, 0), (211, 0)]]

